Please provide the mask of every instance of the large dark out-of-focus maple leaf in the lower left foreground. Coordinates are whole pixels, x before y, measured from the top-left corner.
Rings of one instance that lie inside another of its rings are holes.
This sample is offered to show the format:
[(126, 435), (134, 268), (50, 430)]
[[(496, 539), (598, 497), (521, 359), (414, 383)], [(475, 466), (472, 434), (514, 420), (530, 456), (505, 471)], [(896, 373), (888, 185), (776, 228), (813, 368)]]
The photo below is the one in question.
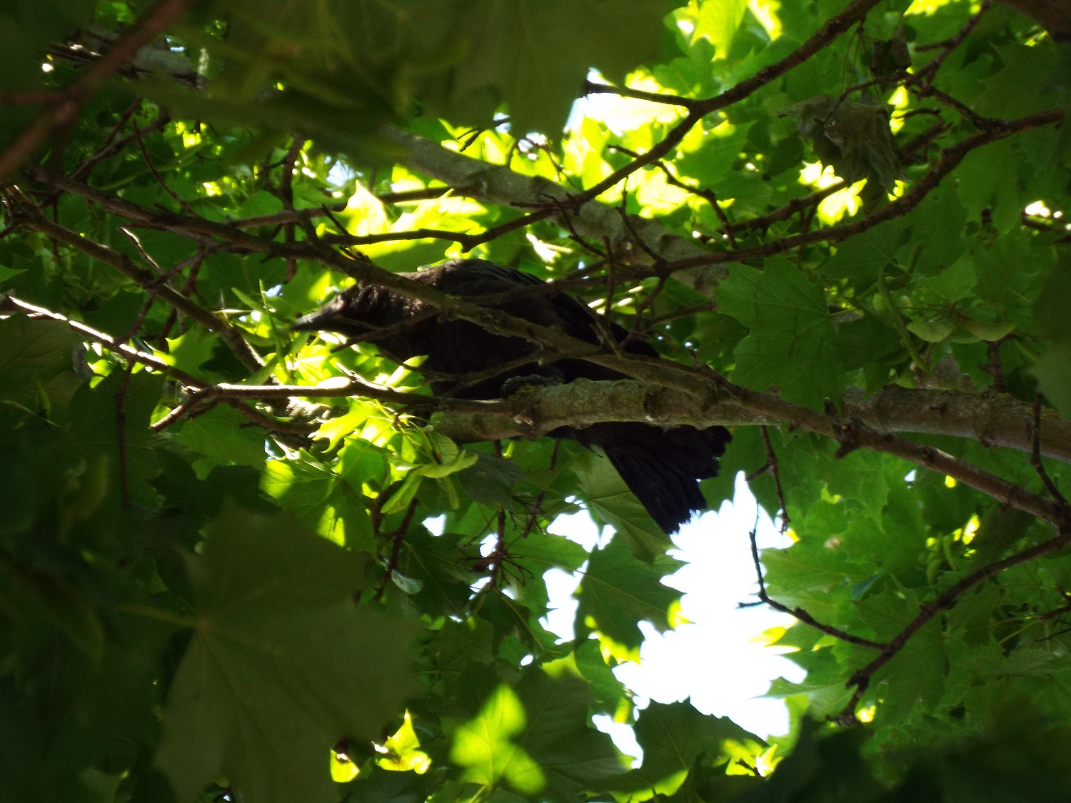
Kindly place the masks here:
[(334, 800), (329, 748), (402, 713), (410, 632), (355, 607), (362, 563), (285, 517), (212, 522), (156, 753), (180, 802), (221, 776), (251, 803)]

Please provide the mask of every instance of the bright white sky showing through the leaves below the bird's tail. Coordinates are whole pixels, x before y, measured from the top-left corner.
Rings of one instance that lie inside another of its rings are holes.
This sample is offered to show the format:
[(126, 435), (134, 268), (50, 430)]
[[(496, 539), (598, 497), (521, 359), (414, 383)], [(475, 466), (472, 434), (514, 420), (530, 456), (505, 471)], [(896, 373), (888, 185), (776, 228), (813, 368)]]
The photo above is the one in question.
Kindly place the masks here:
[[(665, 634), (642, 624), (647, 640), (640, 650), (640, 663), (624, 664), (614, 671), (635, 692), (640, 706), (648, 700), (673, 702), (691, 698), (700, 712), (728, 716), (755, 734), (767, 737), (787, 732), (788, 712), (781, 700), (759, 695), (768, 691), (774, 678), (798, 682), (804, 672), (782, 657), (775, 648), (763, 647), (756, 640), (756, 636), (770, 627), (791, 624), (791, 617), (766, 606), (738, 607), (738, 603), (754, 602), (757, 588), (748, 539), (755, 524), (756, 504), (741, 474), (731, 504), (726, 502), (716, 513), (710, 511), (693, 519), (674, 536), (677, 549), (670, 554), (688, 564), (667, 580), (684, 592), (682, 612), (691, 623)], [(588, 549), (598, 539), (595, 527), (586, 514), (561, 516), (552, 531)], [(758, 524), (759, 548), (789, 543), (763, 512)], [(561, 638), (571, 639), (576, 615), (572, 593), (577, 580), (560, 570), (547, 572), (545, 578), (552, 607), (545, 626)], [(630, 744), (625, 734), (617, 732), (622, 726), (612, 722), (597, 724), (614, 736), (622, 751), (637, 755), (634, 742)]]

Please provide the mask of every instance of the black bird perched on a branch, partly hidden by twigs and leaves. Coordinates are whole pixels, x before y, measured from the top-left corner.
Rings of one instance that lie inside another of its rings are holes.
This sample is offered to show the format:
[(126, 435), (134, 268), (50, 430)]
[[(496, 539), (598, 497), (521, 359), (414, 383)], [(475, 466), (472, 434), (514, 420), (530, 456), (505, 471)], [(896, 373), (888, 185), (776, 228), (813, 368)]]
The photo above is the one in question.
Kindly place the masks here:
[[(456, 259), (416, 273), (401, 274), (453, 296), (491, 296), (542, 285), (543, 282), (511, 268), (482, 259)], [(556, 329), (586, 343), (600, 343), (600, 327), (586, 304), (560, 291), (524, 294), (493, 305), (510, 315)], [(410, 325), (396, 327), (412, 320)], [(380, 336), (374, 333), (395, 327)], [(295, 330), (337, 332), (348, 337), (373, 339), (388, 357), (405, 361), (426, 354), (422, 367), (434, 373), (432, 389), (459, 398), (499, 398), (521, 384), (571, 382), (574, 379), (623, 379), (620, 374), (583, 360), (536, 361), (537, 347), (521, 337), (497, 335), (465, 320), (447, 319), (429, 305), (386, 287), (355, 286), (298, 320)], [(643, 340), (627, 340), (628, 332), (616, 323), (609, 331), (623, 350), (658, 357)], [(371, 337), (368, 335), (372, 335)], [(529, 354), (530, 363), (519, 364)], [(468, 385), (450, 382), (443, 375), (494, 374)], [(655, 524), (666, 533), (706, 507), (698, 481), (718, 474), (718, 458), (731, 436), (723, 426), (668, 429), (635, 422), (607, 422), (583, 429), (561, 427), (553, 437), (571, 438), (585, 446), (599, 446), (624, 484), (636, 495)]]

